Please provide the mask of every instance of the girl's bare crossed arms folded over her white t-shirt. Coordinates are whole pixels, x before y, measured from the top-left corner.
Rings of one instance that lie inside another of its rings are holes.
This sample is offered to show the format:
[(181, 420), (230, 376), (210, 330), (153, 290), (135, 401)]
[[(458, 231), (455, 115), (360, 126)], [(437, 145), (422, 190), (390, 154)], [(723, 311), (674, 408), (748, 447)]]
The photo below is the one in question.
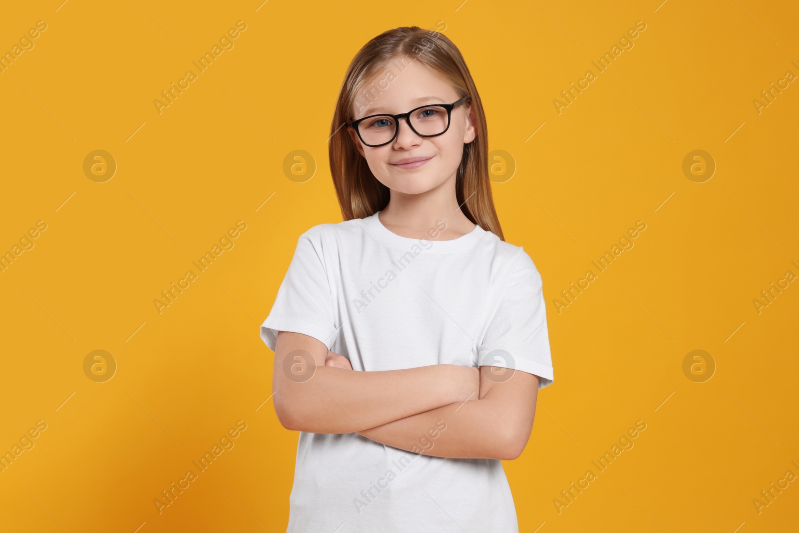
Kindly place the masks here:
[(507, 460), (527, 445), (539, 389), (534, 374), (454, 364), (354, 372), (336, 366), (337, 357), (312, 336), (278, 332), (272, 390), (284, 428), (357, 432), (419, 451), (420, 436), (443, 420), (446, 431), (423, 454)]

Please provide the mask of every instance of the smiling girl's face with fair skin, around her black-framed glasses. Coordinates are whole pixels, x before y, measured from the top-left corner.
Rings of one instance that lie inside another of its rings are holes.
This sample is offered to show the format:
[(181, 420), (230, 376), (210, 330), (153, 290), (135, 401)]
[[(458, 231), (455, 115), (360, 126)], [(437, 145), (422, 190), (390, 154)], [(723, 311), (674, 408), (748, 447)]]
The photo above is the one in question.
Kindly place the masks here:
[[(408, 64), (406, 60), (405, 70), (399, 71), (401, 61), (390, 63), (364, 83), (353, 109), (353, 120), (377, 113), (407, 113), (420, 105), (451, 104), (460, 99), (460, 94), (447, 80), (422, 62)], [(364, 89), (368, 98), (363, 95)], [(425, 193), (450, 179), (454, 181), (463, 157), (463, 145), (476, 136), (475, 119), (465, 102), (452, 109), (449, 129), (442, 135), (419, 137), (405, 119), (400, 119), (398, 127), (400, 131), (394, 141), (377, 147), (364, 145), (352, 126), (348, 125), (347, 129), (378, 181), (392, 191), (406, 194)], [(403, 160), (419, 157), (427, 161), (421, 165), (400, 165)]]

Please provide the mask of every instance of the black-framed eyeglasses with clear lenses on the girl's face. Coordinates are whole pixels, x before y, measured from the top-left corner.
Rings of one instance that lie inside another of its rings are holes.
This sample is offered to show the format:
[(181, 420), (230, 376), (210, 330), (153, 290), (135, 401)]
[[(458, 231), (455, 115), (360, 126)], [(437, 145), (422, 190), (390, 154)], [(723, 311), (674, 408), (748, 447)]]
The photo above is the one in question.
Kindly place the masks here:
[(369, 115), (349, 122), (349, 125), (355, 128), (361, 142), (372, 148), (388, 145), (396, 139), (400, 131), (400, 118), (404, 118), (408, 127), (419, 137), (435, 137), (449, 129), (452, 109), (463, 104), (467, 98), (464, 96), (453, 104), (420, 105), (398, 115)]

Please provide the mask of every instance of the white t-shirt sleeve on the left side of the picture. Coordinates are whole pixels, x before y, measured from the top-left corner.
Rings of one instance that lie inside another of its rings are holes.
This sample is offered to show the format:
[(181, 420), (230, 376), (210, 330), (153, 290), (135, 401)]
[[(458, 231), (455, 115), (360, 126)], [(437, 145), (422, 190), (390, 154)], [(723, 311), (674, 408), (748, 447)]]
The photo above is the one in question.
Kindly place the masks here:
[(260, 338), (272, 352), (280, 331), (304, 333), (320, 340), (328, 350), (332, 348), (337, 328), (323, 251), (316, 226), (297, 240), (272, 310), (260, 325)]

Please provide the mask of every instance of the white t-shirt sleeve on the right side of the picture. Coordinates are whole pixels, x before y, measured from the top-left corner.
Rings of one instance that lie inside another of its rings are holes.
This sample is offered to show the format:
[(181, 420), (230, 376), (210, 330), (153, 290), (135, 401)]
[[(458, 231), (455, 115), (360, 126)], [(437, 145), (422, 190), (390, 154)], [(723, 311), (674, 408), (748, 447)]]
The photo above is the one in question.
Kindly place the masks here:
[(478, 348), (478, 365), (515, 368), (539, 376), (539, 389), (555, 380), (541, 275), (520, 249)]

